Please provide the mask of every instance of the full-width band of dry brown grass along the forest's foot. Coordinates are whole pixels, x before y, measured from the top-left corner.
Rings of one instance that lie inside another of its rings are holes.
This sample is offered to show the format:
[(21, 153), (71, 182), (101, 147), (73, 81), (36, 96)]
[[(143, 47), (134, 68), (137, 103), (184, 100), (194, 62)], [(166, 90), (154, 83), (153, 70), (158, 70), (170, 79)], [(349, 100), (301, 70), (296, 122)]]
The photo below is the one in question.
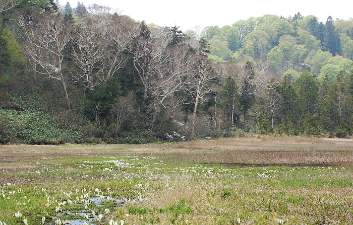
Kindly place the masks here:
[(0, 168), (42, 157), (156, 155), (172, 161), (256, 166), (351, 166), (353, 139), (224, 138), (143, 145), (1, 145)]

